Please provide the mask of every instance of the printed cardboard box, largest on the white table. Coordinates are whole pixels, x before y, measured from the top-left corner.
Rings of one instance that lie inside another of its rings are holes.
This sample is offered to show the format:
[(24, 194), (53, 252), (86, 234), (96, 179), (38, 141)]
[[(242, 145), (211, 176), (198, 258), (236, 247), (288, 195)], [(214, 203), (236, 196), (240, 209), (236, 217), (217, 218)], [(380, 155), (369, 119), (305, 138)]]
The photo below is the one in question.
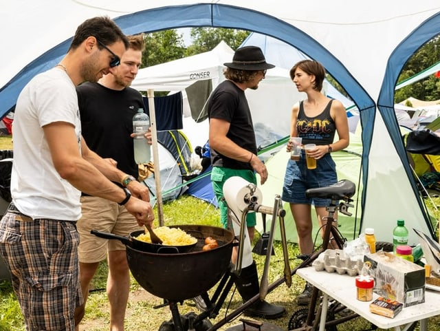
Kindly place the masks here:
[(425, 302), (425, 269), (393, 253), (378, 252), (364, 255), (369, 262), (369, 274), (375, 279), (373, 292), (395, 300), (404, 307)]

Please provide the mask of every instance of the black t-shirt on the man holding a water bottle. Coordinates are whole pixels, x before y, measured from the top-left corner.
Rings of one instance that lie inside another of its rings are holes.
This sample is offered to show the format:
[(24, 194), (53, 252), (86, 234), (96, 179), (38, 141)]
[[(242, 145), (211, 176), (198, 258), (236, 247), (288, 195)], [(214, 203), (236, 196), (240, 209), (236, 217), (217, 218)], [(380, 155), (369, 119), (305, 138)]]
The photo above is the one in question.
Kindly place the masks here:
[(118, 169), (137, 178), (130, 134), (133, 116), (137, 109), (144, 109), (140, 92), (131, 87), (116, 91), (99, 83), (83, 83), (76, 92), (81, 130), (89, 148), (102, 158), (113, 158)]

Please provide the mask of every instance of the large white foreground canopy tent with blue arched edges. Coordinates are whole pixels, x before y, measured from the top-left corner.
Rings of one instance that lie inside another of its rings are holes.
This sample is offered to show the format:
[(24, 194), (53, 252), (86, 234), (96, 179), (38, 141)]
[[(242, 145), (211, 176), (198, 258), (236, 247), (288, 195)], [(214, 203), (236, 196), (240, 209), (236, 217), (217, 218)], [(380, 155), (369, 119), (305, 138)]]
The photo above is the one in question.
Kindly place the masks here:
[[(14, 106), (32, 76), (62, 58), (79, 23), (102, 14), (115, 18), (126, 34), (197, 26), (251, 30), (320, 61), (360, 111), (362, 228), (377, 224), (377, 239), (389, 241), (396, 220), (403, 218), (408, 228), (434, 235), (406, 160), (393, 96), (404, 63), (440, 32), (438, 0), (294, 6), (287, 0), (6, 0), (0, 8), (1, 41), (8, 47), (0, 53), (0, 114)], [(411, 233), (410, 243), (414, 240)]]

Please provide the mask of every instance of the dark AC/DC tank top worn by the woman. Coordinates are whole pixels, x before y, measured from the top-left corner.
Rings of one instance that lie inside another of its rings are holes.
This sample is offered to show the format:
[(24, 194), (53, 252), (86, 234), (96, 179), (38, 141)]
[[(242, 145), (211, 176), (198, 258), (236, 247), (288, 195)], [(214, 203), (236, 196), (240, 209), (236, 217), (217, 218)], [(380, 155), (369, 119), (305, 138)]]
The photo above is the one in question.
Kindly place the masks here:
[(303, 145), (329, 145), (335, 138), (336, 125), (330, 116), (330, 108), (333, 100), (330, 100), (325, 109), (315, 117), (306, 116), (303, 101), (300, 102), (296, 130), (298, 137), (303, 138)]

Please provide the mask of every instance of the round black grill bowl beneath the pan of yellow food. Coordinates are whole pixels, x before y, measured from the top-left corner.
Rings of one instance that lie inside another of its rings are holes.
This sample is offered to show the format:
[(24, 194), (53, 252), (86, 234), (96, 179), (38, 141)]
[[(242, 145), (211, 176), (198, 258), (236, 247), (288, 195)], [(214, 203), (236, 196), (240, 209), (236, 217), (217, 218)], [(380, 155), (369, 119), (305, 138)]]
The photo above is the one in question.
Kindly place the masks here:
[[(197, 245), (186, 253), (148, 253), (126, 246), (129, 268), (147, 292), (168, 301), (183, 301), (210, 290), (228, 270), (234, 246), (231, 231), (215, 226), (179, 225), (197, 237)], [(219, 246), (203, 251), (206, 237)]]

